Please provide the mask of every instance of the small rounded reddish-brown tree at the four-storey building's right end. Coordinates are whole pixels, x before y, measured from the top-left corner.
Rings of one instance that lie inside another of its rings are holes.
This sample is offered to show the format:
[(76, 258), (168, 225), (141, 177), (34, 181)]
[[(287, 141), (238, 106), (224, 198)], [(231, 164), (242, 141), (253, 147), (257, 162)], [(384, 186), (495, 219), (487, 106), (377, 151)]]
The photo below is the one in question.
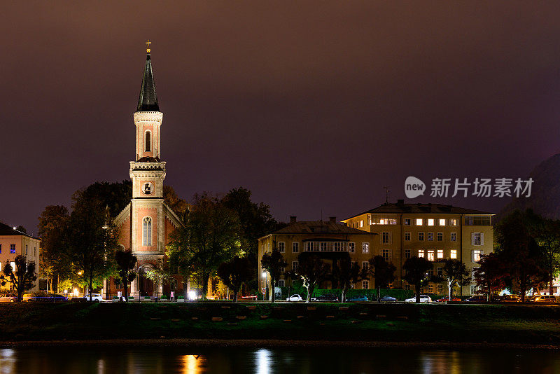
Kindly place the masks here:
[(505, 289), (505, 279), (509, 277), (505, 263), (495, 252), (482, 255), (479, 268), (475, 269), (475, 282), (491, 301), (493, 293)]

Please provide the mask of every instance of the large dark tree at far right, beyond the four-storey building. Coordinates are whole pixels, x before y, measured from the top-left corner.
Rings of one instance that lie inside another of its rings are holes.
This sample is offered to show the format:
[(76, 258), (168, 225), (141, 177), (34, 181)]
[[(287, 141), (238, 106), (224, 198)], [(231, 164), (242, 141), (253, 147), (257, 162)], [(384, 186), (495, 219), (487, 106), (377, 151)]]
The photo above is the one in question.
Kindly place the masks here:
[(525, 301), (527, 291), (548, 280), (540, 247), (531, 233), (531, 212), (515, 211), (494, 229), (496, 251), (503, 259), (512, 289)]

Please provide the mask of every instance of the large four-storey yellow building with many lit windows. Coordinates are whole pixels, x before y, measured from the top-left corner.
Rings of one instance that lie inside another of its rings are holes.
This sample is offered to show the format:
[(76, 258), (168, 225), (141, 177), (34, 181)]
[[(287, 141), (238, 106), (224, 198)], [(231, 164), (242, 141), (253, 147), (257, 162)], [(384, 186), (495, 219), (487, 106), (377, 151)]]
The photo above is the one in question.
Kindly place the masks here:
[[(350, 228), (375, 235), (371, 256), (381, 255), (397, 268), (393, 286), (409, 289), (402, 281), (402, 265), (412, 256), (433, 261), (433, 273), (441, 274), (442, 260), (459, 258), (471, 270), (483, 254), (493, 251), (493, 214), (441, 204), (387, 203), (345, 219)], [(445, 284), (430, 283), (422, 292), (447, 294)], [(463, 286), (461, 295), (472, 295), (475, 284)]]

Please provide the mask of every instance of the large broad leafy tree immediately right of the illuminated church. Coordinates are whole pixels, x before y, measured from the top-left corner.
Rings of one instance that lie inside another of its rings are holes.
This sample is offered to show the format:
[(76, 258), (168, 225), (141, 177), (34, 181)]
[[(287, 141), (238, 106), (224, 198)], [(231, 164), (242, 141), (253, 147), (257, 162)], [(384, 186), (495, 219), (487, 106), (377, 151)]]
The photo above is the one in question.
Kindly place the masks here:
[(169, 261), (182, 275), (195, 277), (208, 292), (210, 275), (218, 266), (243, 254), (239, 218), (214, 196), (195, 195), (186, 213), (184, 227), (177, 228), (169, 241)]

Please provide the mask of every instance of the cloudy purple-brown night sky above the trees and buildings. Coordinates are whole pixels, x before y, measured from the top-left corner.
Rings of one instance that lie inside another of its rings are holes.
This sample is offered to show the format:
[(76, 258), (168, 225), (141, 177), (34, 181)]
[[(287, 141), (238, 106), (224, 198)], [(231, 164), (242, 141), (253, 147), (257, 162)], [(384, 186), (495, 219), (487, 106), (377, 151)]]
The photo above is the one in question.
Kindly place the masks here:
[(244, 186), (282, 221), (344, 219), (409, 175), (526, 177), (560, 151), (557, 3), (21, 3), (0, 22), (0, 220), (30, 232), (129, 179), (147, 39), (182, 198)]

